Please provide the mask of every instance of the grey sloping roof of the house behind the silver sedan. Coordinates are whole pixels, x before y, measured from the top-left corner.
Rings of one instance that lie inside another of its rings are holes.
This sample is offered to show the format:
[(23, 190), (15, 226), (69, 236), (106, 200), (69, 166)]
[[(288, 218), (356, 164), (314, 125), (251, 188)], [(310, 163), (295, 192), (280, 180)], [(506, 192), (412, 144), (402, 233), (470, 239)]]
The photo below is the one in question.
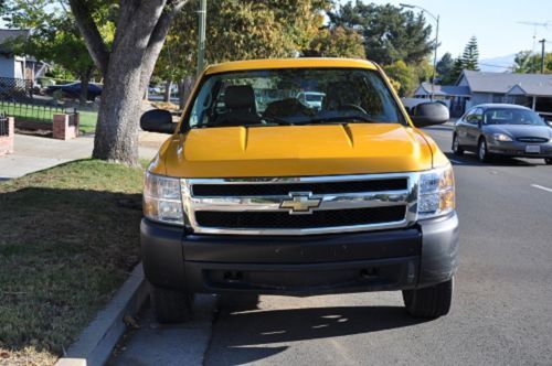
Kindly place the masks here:
[[(552, 96), (552, 74), (509, 74), (464, 71), (471, 93)], [(460, 77), (461, 78), (461, 77)]]

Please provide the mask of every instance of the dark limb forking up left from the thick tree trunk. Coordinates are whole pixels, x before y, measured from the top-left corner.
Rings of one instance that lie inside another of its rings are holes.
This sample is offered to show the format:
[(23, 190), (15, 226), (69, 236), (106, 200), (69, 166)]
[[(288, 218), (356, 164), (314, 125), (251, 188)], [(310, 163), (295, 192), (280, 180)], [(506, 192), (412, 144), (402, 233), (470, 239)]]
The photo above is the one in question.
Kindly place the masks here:
[(92, 18), (91, 11), (84, 0), (68, 0), (71, 10), (75, 17), (76, 24), (84, 36), (86, 49), (91, 53), (92, 60), (102, 74), (107, 74), (109, 63), (109, 51), (99, 34), (98, 28)]

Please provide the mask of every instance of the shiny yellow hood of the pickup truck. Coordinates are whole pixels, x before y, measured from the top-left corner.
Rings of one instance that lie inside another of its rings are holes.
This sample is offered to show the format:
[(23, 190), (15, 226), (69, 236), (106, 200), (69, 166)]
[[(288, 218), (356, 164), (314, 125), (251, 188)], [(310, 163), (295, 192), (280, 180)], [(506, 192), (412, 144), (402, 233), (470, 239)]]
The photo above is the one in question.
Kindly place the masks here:
[(225, 127), (172, 137), (152, 171), (181, 177), (308, 176), (421, 171), (432, 149), (399, 123)]

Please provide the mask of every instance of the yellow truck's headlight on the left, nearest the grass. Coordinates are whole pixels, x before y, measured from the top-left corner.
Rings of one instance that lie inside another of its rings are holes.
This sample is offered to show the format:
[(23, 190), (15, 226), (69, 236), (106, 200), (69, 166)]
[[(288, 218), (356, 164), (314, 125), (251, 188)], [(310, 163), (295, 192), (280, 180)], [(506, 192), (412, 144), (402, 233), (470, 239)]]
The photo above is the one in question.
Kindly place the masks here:
[(179, 179), (146, 172), (144, 216), (163, 224), (184, 225)]

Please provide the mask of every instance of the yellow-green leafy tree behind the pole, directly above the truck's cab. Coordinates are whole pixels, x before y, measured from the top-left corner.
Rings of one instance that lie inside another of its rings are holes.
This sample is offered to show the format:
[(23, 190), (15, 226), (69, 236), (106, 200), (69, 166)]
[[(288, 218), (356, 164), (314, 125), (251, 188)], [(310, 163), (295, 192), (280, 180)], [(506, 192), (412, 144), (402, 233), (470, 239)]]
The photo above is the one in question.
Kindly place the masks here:
[[(296, 56), (323, 25), (322, 11), (329, 6), (329, 0), (208, 1), (213, 15), (208, 19), (205, 61)], [(177, 15), (155, 71), (162, 79), (179, 80), (181, 105), (195, 75), (198, 8), (192, 0)]]

